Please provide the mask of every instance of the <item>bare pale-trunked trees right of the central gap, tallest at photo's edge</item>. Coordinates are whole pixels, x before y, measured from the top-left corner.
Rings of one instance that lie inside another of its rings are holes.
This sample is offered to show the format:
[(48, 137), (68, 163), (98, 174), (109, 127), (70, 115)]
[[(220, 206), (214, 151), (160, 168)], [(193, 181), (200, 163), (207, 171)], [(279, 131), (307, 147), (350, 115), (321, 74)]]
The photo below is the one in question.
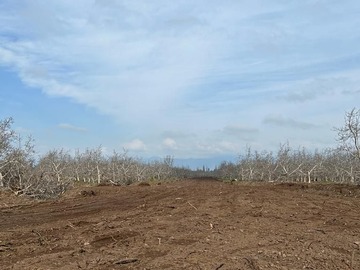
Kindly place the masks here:
[(336, 128), (339, 147), (321, 151), (293, 149), (288, 143), (274, 152), (248, 147), (237, 163), (223, 162), (216, 174), (224, 179), (249, 181), (360, 182), (360, 110), (345, 114)]

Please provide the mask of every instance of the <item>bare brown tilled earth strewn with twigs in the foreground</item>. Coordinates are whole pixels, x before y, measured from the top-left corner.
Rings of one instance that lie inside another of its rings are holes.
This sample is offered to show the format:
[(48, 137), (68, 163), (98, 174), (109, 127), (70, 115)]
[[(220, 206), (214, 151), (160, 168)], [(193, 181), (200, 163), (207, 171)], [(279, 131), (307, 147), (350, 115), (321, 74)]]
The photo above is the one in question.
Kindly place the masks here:
[(0, 193), (0, 269), (360, 269), (360, 189), (325, 184)]

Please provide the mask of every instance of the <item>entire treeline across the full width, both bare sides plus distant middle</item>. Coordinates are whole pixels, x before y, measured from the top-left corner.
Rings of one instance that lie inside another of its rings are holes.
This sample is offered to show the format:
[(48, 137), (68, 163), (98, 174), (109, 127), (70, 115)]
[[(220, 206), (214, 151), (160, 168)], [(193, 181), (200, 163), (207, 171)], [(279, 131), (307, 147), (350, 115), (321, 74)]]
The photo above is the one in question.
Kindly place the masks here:
[(114, 185), (171, 177), (213, 176), (243, 181), (360, 182), (360, 110), (345, 115), (337, 128), (339, 147), (321, 151), (281, 144), (277, 152), (246, 149), (238, 162), (223, 162), (213, 171), (175, 168), (173, 158), (143, 162), (124, 150), (104, 155), (101, 147), (76, 151), (51, 150), (36, 157), (31, 137), (22, 139), (13, 119), (0, 121), (0, 188), (16, 194), (53, 197), (76, 182)]

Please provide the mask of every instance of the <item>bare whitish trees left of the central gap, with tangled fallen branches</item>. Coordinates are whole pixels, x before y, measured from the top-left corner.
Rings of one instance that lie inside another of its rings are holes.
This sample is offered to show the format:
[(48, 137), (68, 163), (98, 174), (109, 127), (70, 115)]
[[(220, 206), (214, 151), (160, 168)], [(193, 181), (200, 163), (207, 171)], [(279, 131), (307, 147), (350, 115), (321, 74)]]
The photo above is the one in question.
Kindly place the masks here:
[(23, 140), (12, 129), (13, 119), (0, 122), (0, 188), (34, 197), (54, 197), (76, 182), (126, 185), (172, 177), (173, 158), (143, 162), (124, 150), (104, 155), (102, 148), (51, 150), (35, 156), (32, 138)]

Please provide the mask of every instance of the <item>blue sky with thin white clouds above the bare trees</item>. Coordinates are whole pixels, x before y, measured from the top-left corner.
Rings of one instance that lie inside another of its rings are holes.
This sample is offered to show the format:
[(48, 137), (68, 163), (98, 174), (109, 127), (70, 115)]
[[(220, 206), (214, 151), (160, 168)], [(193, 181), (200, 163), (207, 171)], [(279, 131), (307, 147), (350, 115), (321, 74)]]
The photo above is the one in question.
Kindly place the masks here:
[(0, 119), (39, 153), (334, 147), (359, 29), (358, 0), (1, 0)]

